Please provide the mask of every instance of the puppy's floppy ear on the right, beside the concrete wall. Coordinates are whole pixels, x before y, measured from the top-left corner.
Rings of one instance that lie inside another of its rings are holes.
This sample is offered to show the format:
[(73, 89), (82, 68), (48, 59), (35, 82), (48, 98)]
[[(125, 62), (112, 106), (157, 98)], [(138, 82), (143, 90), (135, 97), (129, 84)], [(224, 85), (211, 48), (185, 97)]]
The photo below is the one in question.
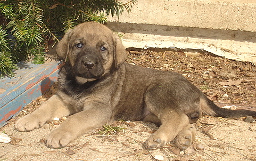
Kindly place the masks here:
[(119, 36), (115, 35), (115, 39), (116, 39), (116, 48), (114, 49), (114, 61), (115, 61), (115, 67), (117, 69), (120, 64), (124, 63), (127, 55)]

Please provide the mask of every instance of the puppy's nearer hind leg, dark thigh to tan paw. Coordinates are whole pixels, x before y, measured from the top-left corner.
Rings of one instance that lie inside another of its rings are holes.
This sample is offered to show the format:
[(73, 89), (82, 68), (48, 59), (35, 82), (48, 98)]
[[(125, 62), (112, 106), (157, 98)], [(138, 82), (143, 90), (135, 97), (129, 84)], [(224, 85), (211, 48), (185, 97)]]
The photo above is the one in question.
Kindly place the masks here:
[(149, 150), (157, 149), (172, 141), (189, 124), (188, 116), (174, 105), (173, 97), (170, 96), (172, 92), (170, 88), (172, 87), (168, 84), (153, 85), (145, 93), (146, 109), (161, 123), (159, 129), (145, 142), (145, 147)]

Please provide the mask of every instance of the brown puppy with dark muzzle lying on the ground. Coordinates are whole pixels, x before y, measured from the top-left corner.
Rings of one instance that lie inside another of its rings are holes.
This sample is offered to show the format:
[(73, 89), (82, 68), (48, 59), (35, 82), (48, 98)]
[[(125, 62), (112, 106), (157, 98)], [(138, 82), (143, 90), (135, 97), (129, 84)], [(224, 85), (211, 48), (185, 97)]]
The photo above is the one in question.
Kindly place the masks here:
[(52, 148), (64, 147), (114, 119), (127, 119), (160, 126), (146, 140), (148, 149), (162, 147), (175, 137), (176, 145), (186, 149), (195, 136), (190, 123), (202, 113), (256, 116), (252, 111), (219, 108), (176, 72), (125, 63), (121, 40), (103, 24), (88, 22), (69, 30), (57, 53), (66, 62), (59, 73), (58, 92), (14, 126), (18, 131), (31, 131), (55, 117), (70, 115), (46, 139)]

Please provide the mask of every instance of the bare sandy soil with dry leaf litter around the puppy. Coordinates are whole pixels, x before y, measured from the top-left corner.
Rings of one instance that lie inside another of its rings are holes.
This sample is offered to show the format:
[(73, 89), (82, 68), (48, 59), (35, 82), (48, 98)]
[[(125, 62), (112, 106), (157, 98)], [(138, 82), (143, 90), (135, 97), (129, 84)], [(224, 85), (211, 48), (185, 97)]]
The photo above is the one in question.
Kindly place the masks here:
[[(253, 64), (188, 50), (132, 49), (128, 55), (128, 63), (181, 73), (221, 107), (233, 105), (232, 109), (256, 111)], [(55, 90), (52, 87), (0, 129), (12, 138), (8, 144), (0, 143), (0, 161), (157, 161), (157, 157), (164, 161), (256, 161), (256, 123), (245, 122), (245, 118), (203, 116), (195, 124), (197, 136), (193, 145), (184, 152), (172, 142), (154, 151), (143, 148), (142, 143), (157, 127), (141, 121), (115, 121), (112, 128), (124, 129), (95, 129), (62, 149), (46, 147), (44, 139), (65, 118), (31, 132), (13, 129), (17, 118), (33, 112)]]

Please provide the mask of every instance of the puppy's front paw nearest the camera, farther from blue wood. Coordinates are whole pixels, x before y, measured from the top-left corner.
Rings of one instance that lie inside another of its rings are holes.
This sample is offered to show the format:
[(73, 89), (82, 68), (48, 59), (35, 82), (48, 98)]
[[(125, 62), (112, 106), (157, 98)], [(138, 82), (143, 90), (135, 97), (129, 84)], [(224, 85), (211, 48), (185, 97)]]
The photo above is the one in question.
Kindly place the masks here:
[(74, 135), (64, 129), (55, 129), (46, 139), (46, 146), (50, 148), (62, 148), (74, 140)]

